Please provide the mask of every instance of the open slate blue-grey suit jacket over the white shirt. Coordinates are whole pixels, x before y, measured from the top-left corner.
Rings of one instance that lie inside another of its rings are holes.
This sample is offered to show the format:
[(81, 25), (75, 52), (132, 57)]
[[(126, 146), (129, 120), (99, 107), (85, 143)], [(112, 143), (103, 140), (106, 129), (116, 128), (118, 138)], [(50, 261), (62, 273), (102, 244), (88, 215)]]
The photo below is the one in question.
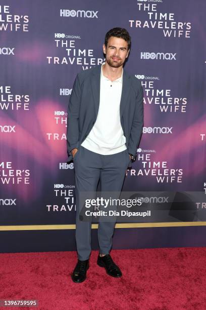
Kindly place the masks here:
[[(68, 106), (67, 151), (78, 148), (92, 129), (98, 113), (101, 65), (77, 74)], [(123, 71), (120, 122), (128, 153), (136, 154), (143, 127), (143, 90), (141, 82)], [(131, 167), (131, 161), (128, 167)]]

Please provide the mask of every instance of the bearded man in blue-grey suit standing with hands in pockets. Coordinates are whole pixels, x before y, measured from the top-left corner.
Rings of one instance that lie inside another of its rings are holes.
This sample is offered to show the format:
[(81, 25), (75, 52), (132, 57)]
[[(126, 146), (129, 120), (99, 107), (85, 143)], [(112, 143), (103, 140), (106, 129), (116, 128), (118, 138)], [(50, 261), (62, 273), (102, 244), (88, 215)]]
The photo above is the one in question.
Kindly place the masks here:
[[(86, 279), (91, 252), (91, 221), (80, 215), (80, 193), (121, 192), (125, 172), (135, 160), (143, 126), (143, 90), (139, 80), (123, 70), (131, 38), (124, 28), (107, 32), (105, 63), (77, 74), (68, 107), (67, 146), (73, 159), (76, 194), (78, 261), (72, 274), (76, 283)], [(110, 256), (115, 221), (99, 221), (97, 264), (108, 275), (122, 273)]]

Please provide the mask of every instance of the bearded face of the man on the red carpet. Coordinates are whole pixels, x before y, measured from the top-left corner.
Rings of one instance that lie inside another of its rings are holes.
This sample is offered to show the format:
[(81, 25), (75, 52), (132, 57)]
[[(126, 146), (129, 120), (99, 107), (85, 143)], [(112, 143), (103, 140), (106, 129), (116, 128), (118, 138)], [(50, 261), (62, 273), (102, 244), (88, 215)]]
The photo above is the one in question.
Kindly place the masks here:
[(111, 36), (108, 40), (107, 48), (103, 45), (107, 63), (114, 68), (119, 68), (128, 57), (129, 50), (127, 42), (120, 37)]

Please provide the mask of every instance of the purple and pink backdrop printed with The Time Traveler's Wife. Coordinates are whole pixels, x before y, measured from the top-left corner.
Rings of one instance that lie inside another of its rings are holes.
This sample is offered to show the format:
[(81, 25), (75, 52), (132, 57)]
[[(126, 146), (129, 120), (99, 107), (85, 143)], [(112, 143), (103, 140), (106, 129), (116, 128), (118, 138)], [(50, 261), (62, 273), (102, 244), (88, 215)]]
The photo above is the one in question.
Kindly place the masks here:
[[(186, 192), (206, 191), (205, 8), (204, 0), (1, 1), (1, 226), (75, 223), (68, 102), (76, 74), (104, 61), (113, 27), (131, 35), (124, 69), (144, 90), (142, 138), (123, 190), (152, 191), (142, 194), (150, 210), (171, 192), (190, 201)], [(153, 210), (147, 222), (200, 221), (205, 208), (196, 200), (161, 218)]]

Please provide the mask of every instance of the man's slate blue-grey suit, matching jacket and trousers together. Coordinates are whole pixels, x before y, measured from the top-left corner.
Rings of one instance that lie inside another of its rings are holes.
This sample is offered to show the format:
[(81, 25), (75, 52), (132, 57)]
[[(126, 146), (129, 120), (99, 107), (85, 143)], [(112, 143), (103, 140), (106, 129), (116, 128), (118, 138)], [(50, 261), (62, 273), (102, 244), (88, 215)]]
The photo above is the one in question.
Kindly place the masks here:
[[(100, 180), (102, 196), (105, 195), (105, 192), (113, 192), (113, 198), (118, 198), (126, 169), (131, 167), (129, 153), (136, 154), (143, 126), (143, 90), (141, 83), (124, 70), (120, 121), (126, 137), (127, 149), (119, 153), (103, 155), (90, 151), (81, 145), (97, 118), (100, 72), (101, 66), (99, 65), (77, 74), (68, 107), (67, 146), (69, 161), (73, 160), (71, 150), (78, 148), (73, 162), (76, 196), (76, 244), (80, 260), (88, 259), (91, 252), (91, 219), (82, 220), (81, 192), (90, 192), (89, 195), (93, 196), (88, 198), (95, 198), (95, 191)], [(93, 193), (91, 194), (91, 192)], [(109, 254), (111, 250), (115, 221), (114, 218), (111, 221), (99, 221), (98, 223), (98, 242), (101, 254)]]

